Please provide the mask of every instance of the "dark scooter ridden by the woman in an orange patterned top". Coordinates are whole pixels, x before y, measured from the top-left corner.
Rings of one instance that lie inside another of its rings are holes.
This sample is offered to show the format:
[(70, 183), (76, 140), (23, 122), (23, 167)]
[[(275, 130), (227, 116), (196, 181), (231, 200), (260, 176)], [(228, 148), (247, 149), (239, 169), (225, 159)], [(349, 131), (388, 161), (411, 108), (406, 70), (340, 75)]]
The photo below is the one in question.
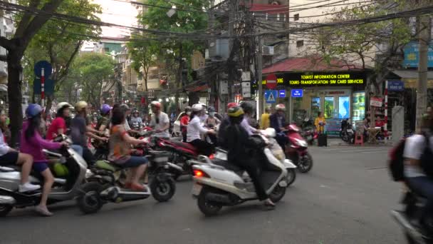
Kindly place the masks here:
[(150, 195), (159, 202), (170, 200), (176, 184), (169, 173), (173, 165), (168, 162), (169, 154), (160, 151), (149, 151), (147, 172), (152, 178), (149, 187), (144, 191), (122, 188), (120, 176), (123, 168), (109, 161), (97, 161), (90, 169), (91, 174), (87, 183), (83, 184), (77, 198), (77, 205), (81, 212), (96, 213), (105, 203), (122, 203), (132, 200), (142, 200)]

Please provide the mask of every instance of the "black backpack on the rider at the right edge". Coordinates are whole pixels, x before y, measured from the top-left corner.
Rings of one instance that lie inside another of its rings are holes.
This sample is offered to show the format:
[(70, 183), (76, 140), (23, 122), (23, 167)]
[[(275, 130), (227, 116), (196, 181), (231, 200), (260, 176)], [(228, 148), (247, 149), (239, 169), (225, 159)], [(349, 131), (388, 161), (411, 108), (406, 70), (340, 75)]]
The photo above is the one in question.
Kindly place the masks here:
[(405, 153), (406, 138), (402, 139), (395, 147), (390, 150), (388, 168), (393, 181), (405, 180)]

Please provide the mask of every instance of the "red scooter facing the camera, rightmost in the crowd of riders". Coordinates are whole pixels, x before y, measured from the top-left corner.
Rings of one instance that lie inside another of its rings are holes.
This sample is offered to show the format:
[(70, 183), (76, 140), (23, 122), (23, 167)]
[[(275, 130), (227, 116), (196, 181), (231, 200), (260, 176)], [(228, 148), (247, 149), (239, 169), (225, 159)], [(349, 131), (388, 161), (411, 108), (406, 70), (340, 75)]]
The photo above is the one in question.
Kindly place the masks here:
[(308, 153), (308, 143), (300, 131), (295, 124), (288, 125), (287, 131), (283, 131), (288, 138), (285, 146), (286, 158), (290, 159), (301, 173), (307, 173), (313, 168), (313, 158)]

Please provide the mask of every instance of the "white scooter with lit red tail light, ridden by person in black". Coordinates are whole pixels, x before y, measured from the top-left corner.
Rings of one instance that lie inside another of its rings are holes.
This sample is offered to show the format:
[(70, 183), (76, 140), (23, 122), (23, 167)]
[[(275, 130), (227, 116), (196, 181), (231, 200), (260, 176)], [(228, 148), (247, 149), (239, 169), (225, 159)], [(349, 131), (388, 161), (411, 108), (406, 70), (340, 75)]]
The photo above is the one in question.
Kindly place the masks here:
[[(269, 148), (266, 148), (266, 137), (253, 136), (260, 148), (259, 156), (266, 161), (266, 167), (261, 173), (262, 181), (269, 198), (276, 203), (286, 194), (287, 170)], [(221, 150), (219, 150), (221, 151)], [(226, 151), (221, 151), (226, 155)], [(216, 156), (213, 160), (206, 156), (199, 156), (192, 161), (194, 171), (194, 185), (192, 195), (197, 198), (199, 210), (204, 215), (212, 216), (219, 213), (223, 206), (233, 206), (257, 200), (256, 190), (251, 181), (243, 178), (244, 171), (226, 161), (226, 158)]]

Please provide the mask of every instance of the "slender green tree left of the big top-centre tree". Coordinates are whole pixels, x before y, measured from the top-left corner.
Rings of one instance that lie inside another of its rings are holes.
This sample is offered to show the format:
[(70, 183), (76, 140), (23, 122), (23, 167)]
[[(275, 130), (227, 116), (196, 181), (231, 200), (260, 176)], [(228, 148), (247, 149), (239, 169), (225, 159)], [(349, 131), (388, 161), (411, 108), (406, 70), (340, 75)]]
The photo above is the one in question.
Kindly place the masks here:
[(147, 91), (149, 68), (157, 64), (157, 42), (152, 39), (140, 39), (137, 34), (132, 34), (131, 40), (127, 43), (127, 51), (133, 61), (132, 68), (143, 77)]

